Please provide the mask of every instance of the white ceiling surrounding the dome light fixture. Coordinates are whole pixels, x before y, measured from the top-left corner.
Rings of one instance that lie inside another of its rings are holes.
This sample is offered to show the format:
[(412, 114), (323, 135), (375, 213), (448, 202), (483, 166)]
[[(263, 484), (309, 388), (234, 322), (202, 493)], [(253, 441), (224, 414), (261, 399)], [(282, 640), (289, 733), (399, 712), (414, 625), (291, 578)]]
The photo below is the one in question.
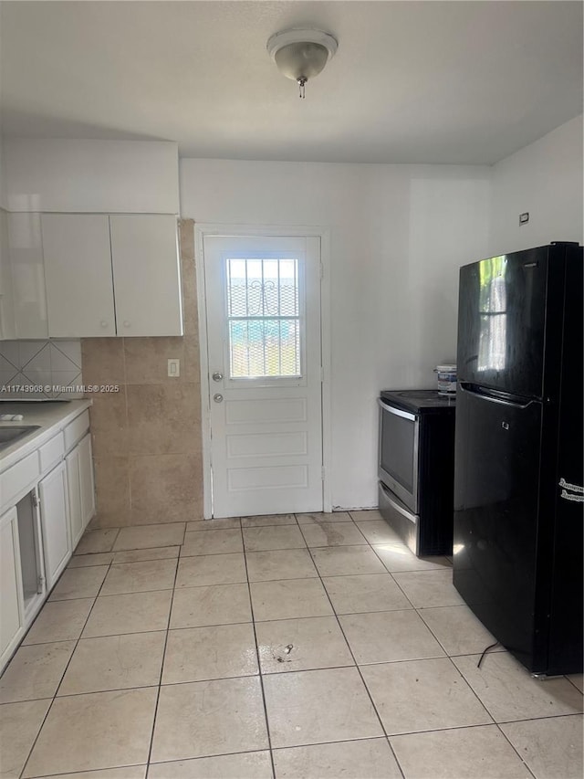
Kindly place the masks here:
[[(182, 156), (495, 163), (582, 111), (580, 2), (2, 2), (5, 135)], [(266, 53), (339, 51), (306, 100)]]

